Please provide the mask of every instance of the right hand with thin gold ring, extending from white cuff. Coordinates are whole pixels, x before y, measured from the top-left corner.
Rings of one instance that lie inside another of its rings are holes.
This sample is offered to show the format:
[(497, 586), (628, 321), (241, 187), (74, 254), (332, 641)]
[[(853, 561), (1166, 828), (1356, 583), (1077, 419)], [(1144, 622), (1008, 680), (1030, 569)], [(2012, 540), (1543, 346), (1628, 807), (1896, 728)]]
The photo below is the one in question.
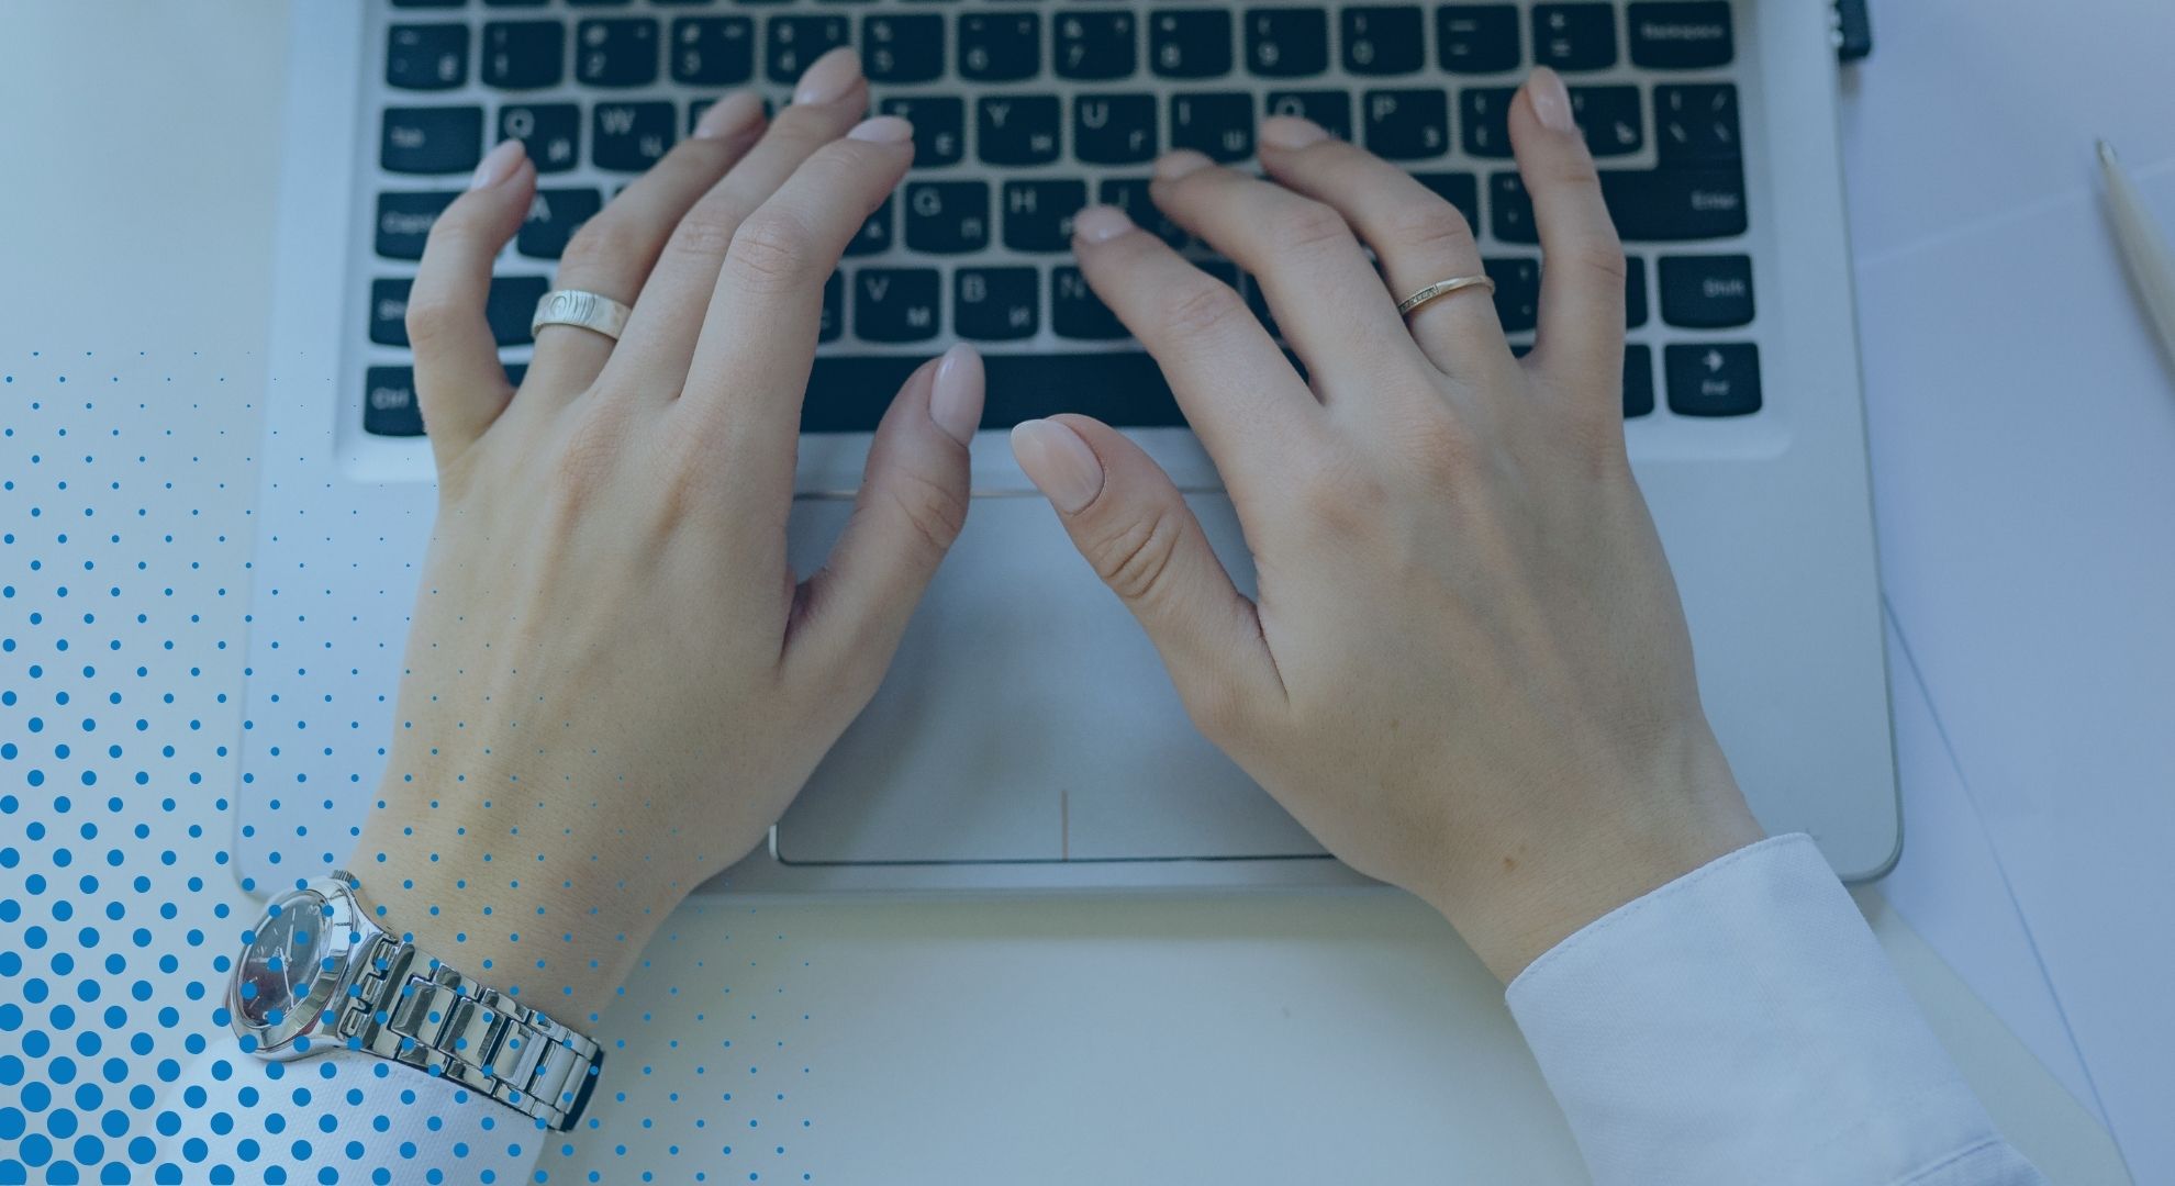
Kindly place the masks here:
[(1625, 457), (1625, 257), (1553, 72), (1533, 72), (1509, 131), (1546, 255), (1525, 361), (1479, 289), (1399, 318), (1399, 296), (1481, 272), (1472, 233), (1303, 120), (1262, 124), (1275, 183), (1172, 152), (1153, 194), (1259, 279), (1307, 381), (1155, 235), (1105, 207), (1074, 220), (1088, 283), (1225, 477), (1259, 603), (1127, 437), (1081, 416), (1014, 431), (1201, 731), (1505, 979), (1760, 836)]

